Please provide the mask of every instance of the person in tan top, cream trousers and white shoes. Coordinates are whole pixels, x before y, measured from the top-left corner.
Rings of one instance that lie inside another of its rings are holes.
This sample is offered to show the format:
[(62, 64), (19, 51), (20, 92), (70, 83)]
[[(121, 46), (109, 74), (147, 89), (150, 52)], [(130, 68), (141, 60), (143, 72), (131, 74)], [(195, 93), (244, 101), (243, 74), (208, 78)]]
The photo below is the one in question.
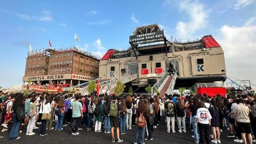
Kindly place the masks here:
[(26, 135), (35, 135), (35, 132), (32, 132), (32, 131), (33, 131), (33, 128), (34, 128), (34, 125), (35, 125), (35, 119), (38, 117), (37, 107), (35, 105), (37, 103), (37, 99), (32, 98), (30, 100), (30, 102), (32, 102), (32, 104), (29, 105), (29, 112), (32, 110), (34, 116), (29, 117), (29, 124), (27, 126)]

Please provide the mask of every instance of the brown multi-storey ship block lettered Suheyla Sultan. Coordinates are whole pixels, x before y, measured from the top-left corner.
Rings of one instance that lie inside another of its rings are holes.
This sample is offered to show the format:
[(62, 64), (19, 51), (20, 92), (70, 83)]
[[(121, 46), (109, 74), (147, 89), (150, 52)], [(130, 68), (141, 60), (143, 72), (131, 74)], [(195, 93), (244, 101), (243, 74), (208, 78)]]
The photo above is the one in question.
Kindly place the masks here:
[(99, 57), (80, 49), (37, 49), (28, 52), (23, 84), (70, 87), (99, 77)]

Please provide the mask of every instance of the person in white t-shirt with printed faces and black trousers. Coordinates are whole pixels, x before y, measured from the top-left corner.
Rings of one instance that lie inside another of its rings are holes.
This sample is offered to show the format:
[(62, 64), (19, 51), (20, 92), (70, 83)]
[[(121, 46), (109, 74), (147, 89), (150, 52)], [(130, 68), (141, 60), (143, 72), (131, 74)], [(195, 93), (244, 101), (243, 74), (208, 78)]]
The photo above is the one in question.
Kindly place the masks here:
[(209, 110), (205, 108), (204, 102), (199, 101), (195, 122), (198, 124), (200, 144), (210, 143), (209, 125), (211, 125), (211, 119), (212, 116)]

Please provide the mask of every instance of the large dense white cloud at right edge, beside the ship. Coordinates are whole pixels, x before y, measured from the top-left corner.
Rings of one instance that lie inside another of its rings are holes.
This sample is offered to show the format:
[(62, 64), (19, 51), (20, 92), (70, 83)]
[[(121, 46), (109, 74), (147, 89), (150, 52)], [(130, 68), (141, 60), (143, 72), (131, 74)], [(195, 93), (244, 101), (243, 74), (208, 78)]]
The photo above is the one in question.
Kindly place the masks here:
[(252, 84), (255, 84), (256, 24), (252, 25), (253, 19), (250, 18), (241, 27), (222, 26), (221, 38), (217, 41), (224, 50), (227, 75), (240, 80), (253, 80)]

